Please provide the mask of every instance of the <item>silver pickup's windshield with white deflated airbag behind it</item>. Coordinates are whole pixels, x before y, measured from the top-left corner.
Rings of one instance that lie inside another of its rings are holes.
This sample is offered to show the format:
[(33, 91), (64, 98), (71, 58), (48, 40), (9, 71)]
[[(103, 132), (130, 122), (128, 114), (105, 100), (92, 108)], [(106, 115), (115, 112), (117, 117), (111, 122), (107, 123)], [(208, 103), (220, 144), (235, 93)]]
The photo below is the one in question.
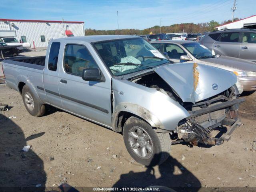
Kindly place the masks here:
[[(114, 76), (137, 72), (170, 62), (142, 38), (96, 42), (94, 45)], [(124, 65), (126, 63), (127, 65)]]

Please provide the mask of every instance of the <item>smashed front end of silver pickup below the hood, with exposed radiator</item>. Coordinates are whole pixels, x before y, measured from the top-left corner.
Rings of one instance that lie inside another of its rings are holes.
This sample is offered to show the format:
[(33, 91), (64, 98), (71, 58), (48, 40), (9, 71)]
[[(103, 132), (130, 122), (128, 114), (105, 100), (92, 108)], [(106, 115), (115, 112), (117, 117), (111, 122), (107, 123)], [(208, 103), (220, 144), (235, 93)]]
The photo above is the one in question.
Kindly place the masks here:
[[(234, 87), (210, 99), (184, 106), (190, 116), (180, 121), (174, 132), (180, 140), (193, 145), (220, 145), (230, 139), (230, 135), (241, 122), (237, 111), (244, 99), (236, 98)], [(229, 129), (226, 126), (230, 126)], [(226, 132), (214, 137), (211, 132)]]

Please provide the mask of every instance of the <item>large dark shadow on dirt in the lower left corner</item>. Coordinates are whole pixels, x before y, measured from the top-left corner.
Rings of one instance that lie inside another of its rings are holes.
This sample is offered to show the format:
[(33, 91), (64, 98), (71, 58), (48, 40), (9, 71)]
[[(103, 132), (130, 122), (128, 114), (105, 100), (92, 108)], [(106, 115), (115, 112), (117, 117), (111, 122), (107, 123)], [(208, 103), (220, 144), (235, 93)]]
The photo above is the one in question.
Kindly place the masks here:
[[(36, 139), (43, 133), (28, 137)], [(0, 114), (0, 191), (44, 191), (46, 173), (43, 161), (33, 152), (22, 151), (26, 139), (21, 128)], [(40, 187), (36, 187), (40, 186)]]

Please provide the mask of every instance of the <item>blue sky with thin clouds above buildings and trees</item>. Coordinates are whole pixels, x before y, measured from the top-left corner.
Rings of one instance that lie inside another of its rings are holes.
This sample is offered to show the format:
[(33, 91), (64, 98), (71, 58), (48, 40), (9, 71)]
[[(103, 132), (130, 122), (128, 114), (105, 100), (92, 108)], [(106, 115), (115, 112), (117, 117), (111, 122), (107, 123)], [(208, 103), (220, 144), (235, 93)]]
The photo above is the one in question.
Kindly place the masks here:
[[(237, 0), (235, 17), (256, 14), (256, 0)], [(0, 18), (84, 21), (84, 28), (144, 29), (232, 18), (234, 0), (1, 0)]]

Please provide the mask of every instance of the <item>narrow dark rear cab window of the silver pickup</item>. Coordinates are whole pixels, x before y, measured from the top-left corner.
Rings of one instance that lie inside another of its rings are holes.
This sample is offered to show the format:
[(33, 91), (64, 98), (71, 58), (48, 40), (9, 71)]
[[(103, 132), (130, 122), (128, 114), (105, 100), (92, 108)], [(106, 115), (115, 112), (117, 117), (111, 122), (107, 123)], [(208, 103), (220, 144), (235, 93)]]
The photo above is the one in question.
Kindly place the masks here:
[(58, 64), (58, 56), (60, 50), (60, 42), (52, 42), (48, 60), (48, 70), (56, 71)]

